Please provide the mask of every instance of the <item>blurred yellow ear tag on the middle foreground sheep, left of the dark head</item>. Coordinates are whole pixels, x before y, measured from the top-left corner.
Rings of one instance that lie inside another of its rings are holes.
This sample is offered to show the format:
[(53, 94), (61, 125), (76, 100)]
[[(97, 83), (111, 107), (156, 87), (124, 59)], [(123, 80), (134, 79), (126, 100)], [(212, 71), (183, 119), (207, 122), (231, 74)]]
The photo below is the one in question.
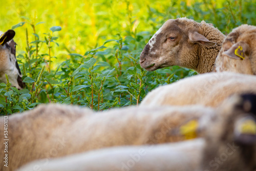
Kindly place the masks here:
[(197, 138), (198, 121), (191, 120), (180, 127), (180, 134), (185, 136), (185, 139)]

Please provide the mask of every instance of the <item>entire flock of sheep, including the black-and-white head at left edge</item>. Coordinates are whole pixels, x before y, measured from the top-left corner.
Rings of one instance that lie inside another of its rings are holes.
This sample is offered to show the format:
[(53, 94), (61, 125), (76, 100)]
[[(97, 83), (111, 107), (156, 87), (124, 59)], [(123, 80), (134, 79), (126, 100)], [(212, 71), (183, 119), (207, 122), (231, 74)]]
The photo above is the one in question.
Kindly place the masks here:
[[(23, 89), (14, 35), (0, 33), (0, 81), (7, 74)], [(199, 75), (158, 87), (139, 106), (94, 112), (44, 104), (1, 116), (8, 140), (0, 170), (256, 171), (255, 44), (255, 26), (225, 36), (204, 21), (169, 19), (145, 45), (140, 66)]]

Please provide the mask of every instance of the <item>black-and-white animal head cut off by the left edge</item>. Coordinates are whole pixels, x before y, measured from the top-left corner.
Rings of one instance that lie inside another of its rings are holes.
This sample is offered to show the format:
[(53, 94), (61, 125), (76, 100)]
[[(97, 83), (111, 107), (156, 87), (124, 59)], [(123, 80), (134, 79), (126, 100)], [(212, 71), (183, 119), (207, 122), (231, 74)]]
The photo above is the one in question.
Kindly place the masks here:
[(16, 59), (16, 43), (13, 40), (15, 31), (7, 30), (0, 32), (0, 82), (6, 82), (5, 74), (8, 75), (12, 86), (17, 89), (25, 88), (22, 82), (22, 73), (20, 72)]

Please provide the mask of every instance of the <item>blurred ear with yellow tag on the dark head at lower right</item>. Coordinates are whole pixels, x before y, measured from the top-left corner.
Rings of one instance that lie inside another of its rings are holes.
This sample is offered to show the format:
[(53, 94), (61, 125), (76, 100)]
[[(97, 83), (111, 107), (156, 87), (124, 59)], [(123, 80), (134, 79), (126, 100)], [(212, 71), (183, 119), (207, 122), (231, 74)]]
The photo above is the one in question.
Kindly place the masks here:
[(234, 141), (245, 145), (256, 143), (256, 122), (252, 116), (238, 119), (234, 126)]

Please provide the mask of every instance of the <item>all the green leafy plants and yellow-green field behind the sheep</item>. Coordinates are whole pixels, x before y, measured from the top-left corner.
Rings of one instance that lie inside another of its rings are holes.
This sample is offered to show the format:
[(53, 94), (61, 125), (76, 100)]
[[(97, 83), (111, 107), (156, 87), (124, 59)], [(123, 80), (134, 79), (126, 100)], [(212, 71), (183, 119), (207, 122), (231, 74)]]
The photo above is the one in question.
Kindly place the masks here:
[(180, 67), (146, 72), (143, 47), (169, 18), (214, 24), (224, 34), (255, 25), (255, 1), (6, 2), (1, 30), (14, 28), (26, 89), (0, 83), (0, 113), (40, 103), (87, 106), (95, 111), (137, 105), (156, 87), (195, 75)]

